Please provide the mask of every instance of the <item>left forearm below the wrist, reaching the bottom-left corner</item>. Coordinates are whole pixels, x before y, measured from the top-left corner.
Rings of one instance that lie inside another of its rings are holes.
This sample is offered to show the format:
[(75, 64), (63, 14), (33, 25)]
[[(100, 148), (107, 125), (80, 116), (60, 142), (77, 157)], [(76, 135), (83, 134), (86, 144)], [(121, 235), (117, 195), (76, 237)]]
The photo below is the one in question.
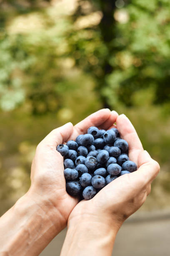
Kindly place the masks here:
[(57, 216), (50, 202), (37, 204), (28, 195), (21, 197), (0, 218), (0, 256), (39, 255), (64, 228)]

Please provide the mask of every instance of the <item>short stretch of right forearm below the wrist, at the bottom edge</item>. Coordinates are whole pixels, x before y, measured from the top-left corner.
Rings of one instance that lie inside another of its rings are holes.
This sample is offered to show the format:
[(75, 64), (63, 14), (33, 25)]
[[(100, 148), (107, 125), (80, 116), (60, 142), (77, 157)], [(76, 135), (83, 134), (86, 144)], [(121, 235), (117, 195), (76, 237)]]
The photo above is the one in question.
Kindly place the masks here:
[(93, 220), (70, 224), (60, 256), (111, 256), (116, 234), (112, 225)]

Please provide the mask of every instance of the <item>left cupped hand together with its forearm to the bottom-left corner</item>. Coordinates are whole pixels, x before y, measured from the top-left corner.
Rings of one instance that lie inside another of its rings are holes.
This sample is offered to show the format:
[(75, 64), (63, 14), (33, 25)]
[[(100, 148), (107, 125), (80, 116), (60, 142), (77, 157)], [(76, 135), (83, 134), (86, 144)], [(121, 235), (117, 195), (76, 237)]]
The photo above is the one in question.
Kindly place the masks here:
[(107, 129), (118, 114), (102, 109), (77, 125), (67, 123), (49, 133), (37, 146), (31, 167), (31, 186), (0, 218), (0, 256), (37, 256), (67, 225), (78, 199), (65, 190), (63, 157), (56, 146), (87, 132)]

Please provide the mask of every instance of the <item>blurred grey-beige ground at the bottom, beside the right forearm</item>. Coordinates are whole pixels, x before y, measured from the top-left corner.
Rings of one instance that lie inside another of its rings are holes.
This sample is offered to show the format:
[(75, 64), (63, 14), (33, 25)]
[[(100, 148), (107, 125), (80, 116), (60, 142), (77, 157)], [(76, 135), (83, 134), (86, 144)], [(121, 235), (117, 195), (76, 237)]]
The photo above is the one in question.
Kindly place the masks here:
[[(170, 211), (135, 213), (120, 228), (112, 256), (169, 256)], [(66, 235), (63, 230), (40, 256), (59, 256)]]

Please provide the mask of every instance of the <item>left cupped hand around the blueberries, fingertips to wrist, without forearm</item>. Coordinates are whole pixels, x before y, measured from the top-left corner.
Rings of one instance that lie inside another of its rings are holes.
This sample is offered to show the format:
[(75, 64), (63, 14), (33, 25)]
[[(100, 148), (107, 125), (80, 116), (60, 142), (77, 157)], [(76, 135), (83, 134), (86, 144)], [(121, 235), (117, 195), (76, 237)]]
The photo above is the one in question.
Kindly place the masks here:
[[(58, 144), (74, 139), (87, 132), (90, 126), (103, 129), (112, 125), (117, 113), (109, 109), (102, 109), (88, 116), (75, 126), (67, 123), (51, 131), (37, 146), (31, 168), (31, 187), (28, 191), (30, 197), (52, 221), (55, 220), (61, 228), (67, 224), (70, 212), (78, 199), (67, 194), (65, 189), (63, 157), (56, 151)], [(50, 209), (55, 209), (50, 211)], [(52, 213), (51, 213), (52, 212)], [(52, 216), (51, 216), (52, 215)]]

